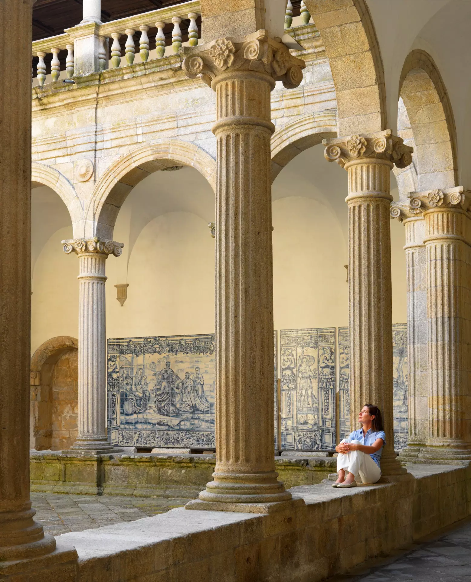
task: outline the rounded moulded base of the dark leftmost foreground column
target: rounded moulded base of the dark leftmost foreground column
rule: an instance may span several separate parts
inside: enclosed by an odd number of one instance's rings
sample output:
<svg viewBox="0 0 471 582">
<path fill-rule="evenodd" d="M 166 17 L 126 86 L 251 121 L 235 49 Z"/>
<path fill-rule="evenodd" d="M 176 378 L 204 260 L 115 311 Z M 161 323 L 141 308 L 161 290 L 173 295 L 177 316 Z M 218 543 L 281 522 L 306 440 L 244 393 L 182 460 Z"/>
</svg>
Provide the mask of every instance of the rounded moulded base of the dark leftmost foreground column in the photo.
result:
<svg viewBox="0 0 471 582">
<path fill-rule="evenodd" d="M 56 541 L 44 535 L 43 526 L 33 520 L 31 502 L 19 510 L 0 513 L 0 563 L 54 552 Z"/>
</svg>

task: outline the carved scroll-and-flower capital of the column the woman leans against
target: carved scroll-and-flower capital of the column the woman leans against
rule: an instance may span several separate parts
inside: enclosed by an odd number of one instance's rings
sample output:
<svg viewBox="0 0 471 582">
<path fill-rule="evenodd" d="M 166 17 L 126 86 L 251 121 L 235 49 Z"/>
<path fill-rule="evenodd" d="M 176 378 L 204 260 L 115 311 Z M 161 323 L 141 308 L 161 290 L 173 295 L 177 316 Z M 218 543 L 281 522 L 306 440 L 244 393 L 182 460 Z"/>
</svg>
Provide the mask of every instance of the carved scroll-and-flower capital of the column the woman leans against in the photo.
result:
<svg viewBox="0 0 471 582">
<path fill-rule="evenodd" d="M 412 162 L 414 151 L 409 145 L 404 145 L 401 137 L 393 136 L 390 129 L 361 136 L 335 137 L 322 143 L 326 146 L 324 158 L 328 162 L 337 162 L 342 168 L 348 162 L 368 158 L 384 159 L 398 168 L 406 168 Z"/>
</svg>

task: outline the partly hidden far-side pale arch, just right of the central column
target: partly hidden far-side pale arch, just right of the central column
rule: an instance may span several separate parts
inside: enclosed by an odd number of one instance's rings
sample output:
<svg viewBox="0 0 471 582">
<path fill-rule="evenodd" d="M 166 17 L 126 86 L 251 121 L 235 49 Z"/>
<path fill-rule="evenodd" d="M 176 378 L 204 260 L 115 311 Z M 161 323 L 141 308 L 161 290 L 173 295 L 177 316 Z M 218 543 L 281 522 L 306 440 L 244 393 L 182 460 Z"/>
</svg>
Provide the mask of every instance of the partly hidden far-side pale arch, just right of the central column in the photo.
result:
<svg viewBox="0 0 471 582">
<path fill-rule="evenodd" d="M 271 182 L 300 152 L 323 139 L 337 137 L 336 111 L 303 115 L 271 136 Z"/>
</svg>

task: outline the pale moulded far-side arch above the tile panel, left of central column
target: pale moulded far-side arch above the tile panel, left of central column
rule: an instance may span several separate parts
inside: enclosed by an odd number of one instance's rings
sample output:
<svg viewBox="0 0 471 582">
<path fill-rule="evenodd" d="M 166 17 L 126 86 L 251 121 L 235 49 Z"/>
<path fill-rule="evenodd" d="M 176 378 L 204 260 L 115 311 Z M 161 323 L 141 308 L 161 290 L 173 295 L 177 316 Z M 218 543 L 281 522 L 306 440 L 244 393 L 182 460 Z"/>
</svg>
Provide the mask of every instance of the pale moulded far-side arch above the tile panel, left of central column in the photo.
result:
<svg viewBox="0 0 471 582">
<path fill-rule="evenodd" d="M 111 239 L 119 208 L 136 184 L 158 170 L 192 166 L 215 191 L 216 162 L 206 151 L 187 141 L 158 139 L 132 148 L 101 176 L 86 209 L 92 236 Z"/>
</svg>

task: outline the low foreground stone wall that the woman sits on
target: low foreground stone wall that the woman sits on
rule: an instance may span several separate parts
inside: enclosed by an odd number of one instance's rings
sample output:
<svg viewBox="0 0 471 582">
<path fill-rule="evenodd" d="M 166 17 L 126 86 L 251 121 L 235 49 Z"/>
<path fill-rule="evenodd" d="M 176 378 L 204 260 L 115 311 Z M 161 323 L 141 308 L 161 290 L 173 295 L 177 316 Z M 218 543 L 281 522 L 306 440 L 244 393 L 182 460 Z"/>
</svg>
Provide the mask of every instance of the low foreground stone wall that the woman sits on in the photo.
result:
<svg viewBox="0 0 471 582">
<path fill-rule="evenodd" d="M 469 467 L 409 471 L 356 489 L 293 488 L 295 501 L 273 513 L 179 508 L 56 539 L 77 549 L 80 581 L 316 582 L 470 514 Z"/>
</svg>

